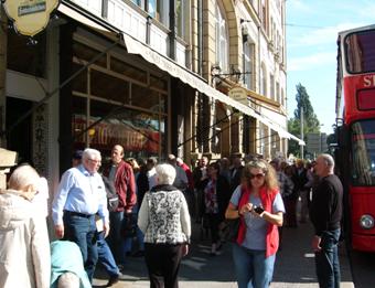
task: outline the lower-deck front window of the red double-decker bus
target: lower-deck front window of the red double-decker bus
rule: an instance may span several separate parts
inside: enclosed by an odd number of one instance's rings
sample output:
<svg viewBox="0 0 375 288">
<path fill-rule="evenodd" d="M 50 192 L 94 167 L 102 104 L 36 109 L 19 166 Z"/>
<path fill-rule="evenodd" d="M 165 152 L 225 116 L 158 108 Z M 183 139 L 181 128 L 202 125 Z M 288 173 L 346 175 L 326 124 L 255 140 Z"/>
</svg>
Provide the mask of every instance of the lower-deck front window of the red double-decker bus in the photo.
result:
<svg viewBox="0 0 375 288">
<path fill-rule="evenodd" d="M 352 180 L 354 185 L 375 185 L 375 120 L 352 126 Z"/>
</svg>

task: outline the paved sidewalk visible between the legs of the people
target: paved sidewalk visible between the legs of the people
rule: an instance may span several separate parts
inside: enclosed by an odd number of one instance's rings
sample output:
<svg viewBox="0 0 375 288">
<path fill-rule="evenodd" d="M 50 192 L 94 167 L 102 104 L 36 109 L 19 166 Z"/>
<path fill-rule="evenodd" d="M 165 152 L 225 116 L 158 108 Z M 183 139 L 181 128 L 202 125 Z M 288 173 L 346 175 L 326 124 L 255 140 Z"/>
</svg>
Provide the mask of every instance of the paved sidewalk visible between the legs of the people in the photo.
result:
<svg viewBox="0 0 375 288">
<path fill-rule="evenodd" d="M 188 257 L 182 260 L 180 287 L 231 288 L 235 282 L 231 244 L 225 244 L 221 255 L 210 256 L 210 241 L 200 241 L 199 226 L 194 225 L 193 245 Z M 301 224 L 298 228 L 283 228 L 282 248 L 276 258 L 271 288 L 319 287 L 314 270 L 314 255 L 310 248 L 312 227 Z M 354 287 L 346 252 L 340 247 L 342 288 Z M 97 273 L 94 287 L 105 287 L 107 277 Z M 149 287 L 143 258 L 129 257 L 125 275 L 113 286 L 143 288 Z"/>
</svg>

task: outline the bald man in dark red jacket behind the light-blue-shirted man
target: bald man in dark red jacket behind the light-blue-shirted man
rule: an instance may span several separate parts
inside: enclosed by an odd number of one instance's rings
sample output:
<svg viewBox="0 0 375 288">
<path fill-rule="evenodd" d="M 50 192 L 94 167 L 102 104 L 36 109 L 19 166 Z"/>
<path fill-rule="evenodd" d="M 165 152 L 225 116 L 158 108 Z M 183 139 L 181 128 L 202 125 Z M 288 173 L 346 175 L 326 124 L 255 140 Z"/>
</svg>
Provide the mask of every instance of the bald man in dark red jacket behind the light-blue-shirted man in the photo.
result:
<svg viewBox="0 0 375 288">
<path fill-rule="evenodd" d="M 118 265 L 125 264 L 126 245 L 121 235 L 122 222 L 131 217 L 137 203 L 136 180 L 131 167 L 124 161 L 124 148 L 115 145 L 111 150 L 111 164 L 103 173 L 114 183 L 119 204 L 116 211 L 109 212 L 109 246 Z"/>
</svg>

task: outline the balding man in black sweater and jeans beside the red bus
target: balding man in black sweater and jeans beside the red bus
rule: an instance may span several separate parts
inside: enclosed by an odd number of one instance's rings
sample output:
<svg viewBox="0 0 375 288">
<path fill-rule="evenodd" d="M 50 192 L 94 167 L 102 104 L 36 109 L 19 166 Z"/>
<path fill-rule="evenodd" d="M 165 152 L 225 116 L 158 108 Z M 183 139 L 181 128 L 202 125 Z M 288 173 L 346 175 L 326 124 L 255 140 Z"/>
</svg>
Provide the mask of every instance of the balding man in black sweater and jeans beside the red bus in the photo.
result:
<svg viewBox="0 0 375 288">
<path fill-rule="evenodd" d="M 338 243 L 342 218 L 343 186 L 333 173 L 334 160 L 330 154 L 320 154 L 315 173 L 320 178 L 313 189 L 310 220 L 315 235 L 312 248 L 315 252 L 315 268 L 320 287 L 340 287 Z"/>
</svg>

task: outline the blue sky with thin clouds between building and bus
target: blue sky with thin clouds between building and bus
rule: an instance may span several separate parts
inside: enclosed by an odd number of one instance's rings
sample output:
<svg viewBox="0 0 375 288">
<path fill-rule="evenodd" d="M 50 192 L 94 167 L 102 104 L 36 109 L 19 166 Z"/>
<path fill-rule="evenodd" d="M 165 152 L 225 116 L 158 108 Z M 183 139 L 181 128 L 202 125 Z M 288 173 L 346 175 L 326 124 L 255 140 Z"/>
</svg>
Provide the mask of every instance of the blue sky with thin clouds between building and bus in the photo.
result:
<svg viewBox="0 0 375 288">
<path fill-rule="evenodd" d="M 375 1 L 287 0 L 286 24 L 288 117 L 294 117 L 296 85 L 301 83 L 321 131 L 332 134 L 338 32 L 375 24 Z"/>
</svg>

